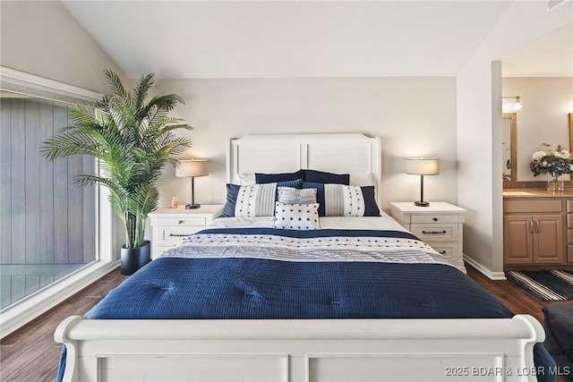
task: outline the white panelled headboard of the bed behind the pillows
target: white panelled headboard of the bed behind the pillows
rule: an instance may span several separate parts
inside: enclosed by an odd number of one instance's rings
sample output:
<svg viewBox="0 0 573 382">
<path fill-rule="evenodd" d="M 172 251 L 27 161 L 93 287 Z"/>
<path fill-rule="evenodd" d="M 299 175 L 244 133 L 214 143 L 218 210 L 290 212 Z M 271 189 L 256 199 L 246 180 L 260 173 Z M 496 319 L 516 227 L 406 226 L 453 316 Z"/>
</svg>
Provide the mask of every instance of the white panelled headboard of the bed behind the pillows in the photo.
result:
<svg viewBox="0 0 573 382">
<path fill-rule="evenodd" d="M 336 174 L 372 174 L 381 205 L 381 143 L 363 134 L 247 135 L 229 141 L 227 183 L 237 174 L 292 173 L 301 168 Z"/>
</svg>

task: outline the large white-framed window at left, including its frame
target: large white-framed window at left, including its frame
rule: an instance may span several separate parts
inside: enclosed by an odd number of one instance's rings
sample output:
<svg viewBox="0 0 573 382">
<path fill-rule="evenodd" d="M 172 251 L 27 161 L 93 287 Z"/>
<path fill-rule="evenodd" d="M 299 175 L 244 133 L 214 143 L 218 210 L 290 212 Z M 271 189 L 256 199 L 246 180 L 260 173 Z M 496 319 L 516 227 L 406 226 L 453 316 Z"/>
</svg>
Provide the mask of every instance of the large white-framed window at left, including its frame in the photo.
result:
<svg viewBox="0 0 573 382">
<path fill-rule="evenodd" d="M 67 124 L 67 106 L 101 95 L 0 66 L 0 335 L 118 266 L 115 219 L 91 157 L 50 162 L 40 145 Z"/>
</svg>

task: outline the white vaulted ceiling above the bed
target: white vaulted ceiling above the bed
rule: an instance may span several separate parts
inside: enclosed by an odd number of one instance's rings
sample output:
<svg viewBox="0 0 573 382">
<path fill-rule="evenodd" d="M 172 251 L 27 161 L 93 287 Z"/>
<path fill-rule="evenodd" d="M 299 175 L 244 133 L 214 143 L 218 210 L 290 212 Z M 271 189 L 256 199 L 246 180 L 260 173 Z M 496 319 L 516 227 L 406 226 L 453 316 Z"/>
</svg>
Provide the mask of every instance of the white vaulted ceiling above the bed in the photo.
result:
<svg viewBox="0 0 573 382">
<path fill-rule="evenodd" d="M 62 3 L 129 77 L 177 79 L 455 76 L 510 2 Z"/>
</svg>

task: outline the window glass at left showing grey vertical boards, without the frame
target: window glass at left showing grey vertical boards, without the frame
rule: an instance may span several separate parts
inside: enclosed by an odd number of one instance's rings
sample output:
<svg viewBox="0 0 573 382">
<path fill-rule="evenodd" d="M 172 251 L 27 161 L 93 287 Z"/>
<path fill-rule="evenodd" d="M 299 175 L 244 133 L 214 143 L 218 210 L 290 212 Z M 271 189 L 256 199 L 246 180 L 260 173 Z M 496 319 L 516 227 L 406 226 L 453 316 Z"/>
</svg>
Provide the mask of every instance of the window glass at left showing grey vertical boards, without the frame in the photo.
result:
<svg viewBox="0 0 573 382">
<path fill-rule="evenodd" d="M 91 157 L 50 162 L 44 140 L 66 126 L 67 104 L 0 93 L 0 309 L 97 260 Z"/>
</svg>

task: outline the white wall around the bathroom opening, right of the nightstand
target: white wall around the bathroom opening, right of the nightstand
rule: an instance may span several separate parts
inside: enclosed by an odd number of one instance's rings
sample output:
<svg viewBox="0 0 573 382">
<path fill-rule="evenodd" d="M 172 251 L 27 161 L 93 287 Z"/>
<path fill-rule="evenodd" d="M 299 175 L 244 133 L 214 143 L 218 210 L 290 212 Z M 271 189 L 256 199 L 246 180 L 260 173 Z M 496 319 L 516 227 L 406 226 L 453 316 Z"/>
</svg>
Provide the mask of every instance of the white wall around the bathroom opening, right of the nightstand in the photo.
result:
<svg viewBox="0 0 573 382">
<path fill-rule="evenodd" d="M 469 211 L 464 251 L 489 276 L 503 276 L 498 60 L 571 21 L 570 1 L 551 12 L 543 1 L 515 1 L 458 75 L 458 203 Z"/>
</svg>

